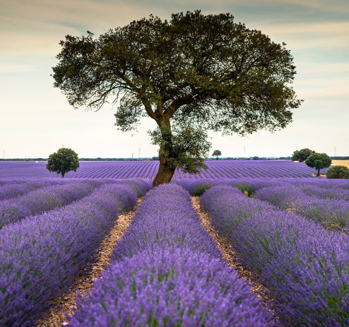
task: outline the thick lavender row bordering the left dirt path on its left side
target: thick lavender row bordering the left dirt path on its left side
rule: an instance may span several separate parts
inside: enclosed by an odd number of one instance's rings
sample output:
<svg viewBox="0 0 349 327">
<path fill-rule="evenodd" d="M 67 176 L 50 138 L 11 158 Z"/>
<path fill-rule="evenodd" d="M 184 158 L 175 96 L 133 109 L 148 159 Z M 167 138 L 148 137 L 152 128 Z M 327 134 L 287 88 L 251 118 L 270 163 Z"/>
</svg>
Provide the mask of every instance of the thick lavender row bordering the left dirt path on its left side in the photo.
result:
<svg viewBox="0 0 349 327">
<path fill-rule="evenodd" d="M 43 318 L 77 277 L 88 274 L 84 268 L 96 260 L 118 215 L 151 187 L 142 180 L 112 181 L 70 205 L 0 230 L 1 326 L 34 326 Z"/>
</svg>

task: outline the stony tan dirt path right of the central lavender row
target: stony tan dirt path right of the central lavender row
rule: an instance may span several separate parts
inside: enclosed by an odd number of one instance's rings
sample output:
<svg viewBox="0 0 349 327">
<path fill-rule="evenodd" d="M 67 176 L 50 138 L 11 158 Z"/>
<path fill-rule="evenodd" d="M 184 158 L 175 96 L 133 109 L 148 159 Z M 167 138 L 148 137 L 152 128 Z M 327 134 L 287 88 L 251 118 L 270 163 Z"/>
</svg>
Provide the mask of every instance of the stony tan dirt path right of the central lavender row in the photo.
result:
<svg viewBox="0 0 349 327">
<path fill-rule="evenodd" d="M 221 250 L 222 256 L 226 260 L 228 267 L 234 268 L 240 278 L 245 277 L 248 282 L 252 282 L 251 291 L 256 295 L 257 299 L 260 299 L 263 307 L 268 308 L 268 312 L 274 316 L 274 324 L 276 323 L 277 326 L 282 326 L 279 322 L 279 317 L 277 317 L 275 312 L 270 309 L 273 307 L 274 298 L 270 296 L 268 289 L 260 283 L 259 277 L 256 274 L 252 273 L 248 267 L 242 265 L 242 260 L 240 259 L 239 254 L 233 250 L 229 240 L 220 235 L 211 225 L 209 213 L 200 207 L 200 196 L 192 196 L 191 199 L 193 207 L 199 215 L 201 224 L 211 235 L 218 249 Z"/>
</svg>

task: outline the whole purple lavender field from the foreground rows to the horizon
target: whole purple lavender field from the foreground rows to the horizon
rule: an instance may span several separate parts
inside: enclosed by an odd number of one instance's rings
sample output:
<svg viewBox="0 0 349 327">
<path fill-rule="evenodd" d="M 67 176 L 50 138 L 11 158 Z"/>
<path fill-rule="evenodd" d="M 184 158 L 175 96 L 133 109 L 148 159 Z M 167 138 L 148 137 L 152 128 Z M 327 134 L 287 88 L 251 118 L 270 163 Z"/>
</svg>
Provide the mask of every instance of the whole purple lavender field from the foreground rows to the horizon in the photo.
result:
<svg viewBox="0 0 349 327">
<path fill-rule="evenodd" d="M 21 176 L 0 178 L 0 326 L 348 326 L 349 180 L 208 164 L 218 176 L 151 189 L 153 162 L 83 163 L 95 178 L 67 179 L 15 163 Z M 247 178 L 223 178 L 233 169 Z"/>
</svg>

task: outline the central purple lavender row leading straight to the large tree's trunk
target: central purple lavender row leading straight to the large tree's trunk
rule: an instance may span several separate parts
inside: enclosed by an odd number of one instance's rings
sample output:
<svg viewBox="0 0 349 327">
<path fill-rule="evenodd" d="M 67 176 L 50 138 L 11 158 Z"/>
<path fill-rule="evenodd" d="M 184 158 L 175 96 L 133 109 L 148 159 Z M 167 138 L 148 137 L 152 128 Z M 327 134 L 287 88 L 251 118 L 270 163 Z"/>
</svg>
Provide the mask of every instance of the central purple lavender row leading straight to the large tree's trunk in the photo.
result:
<svg viewBox="0 0 349 327">
<path fill-rule="evenodd" d="M 221 260 L 188 193 L 161 185 L 144 198 L 103 279 L 69 326 L 265 326 L 267 321 L 250 288 Z"/>
</svg>

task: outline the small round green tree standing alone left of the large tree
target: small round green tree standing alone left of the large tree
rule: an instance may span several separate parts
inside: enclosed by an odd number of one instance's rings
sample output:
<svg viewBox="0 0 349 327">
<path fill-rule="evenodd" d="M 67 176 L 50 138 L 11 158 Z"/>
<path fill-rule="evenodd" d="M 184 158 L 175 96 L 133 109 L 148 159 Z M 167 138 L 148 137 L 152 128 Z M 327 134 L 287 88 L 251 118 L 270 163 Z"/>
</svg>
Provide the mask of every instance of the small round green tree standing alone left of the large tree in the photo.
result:
<svg viewBox="0 0 349 327">
<path fill-rule="evenodd" d="M 51 172 L 62 174 L 64 178 L 68 171 L 75 171 L 79 168 L 79 158 L 77 153 L 72 149 L 60 148 L 57 152 L 49 155 L 46 168 Z"/>
</svg>

